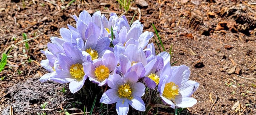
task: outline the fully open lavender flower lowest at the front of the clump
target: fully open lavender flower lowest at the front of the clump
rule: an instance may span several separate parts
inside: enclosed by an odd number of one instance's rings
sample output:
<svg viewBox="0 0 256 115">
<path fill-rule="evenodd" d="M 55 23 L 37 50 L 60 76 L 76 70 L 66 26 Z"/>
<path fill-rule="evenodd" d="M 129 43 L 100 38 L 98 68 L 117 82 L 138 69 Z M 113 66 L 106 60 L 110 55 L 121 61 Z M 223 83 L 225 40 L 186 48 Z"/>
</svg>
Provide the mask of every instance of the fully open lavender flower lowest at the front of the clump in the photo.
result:
<svg viewBox="0 0 256 115">
<path fill-rule="evenodd" d="M 103 93 L 100 102 L 105 104 L 116 103 L 118 115 L 127 115 L 129 105 L 138 111 L 145 111 L 145 103 L 141 99 L 144 95 L 144 84 L 137 82 L 136 72 L 127 72 L 121 77 L 119 74 L 110 75 L 108 86 L 111 88 Z"/>
</svg>

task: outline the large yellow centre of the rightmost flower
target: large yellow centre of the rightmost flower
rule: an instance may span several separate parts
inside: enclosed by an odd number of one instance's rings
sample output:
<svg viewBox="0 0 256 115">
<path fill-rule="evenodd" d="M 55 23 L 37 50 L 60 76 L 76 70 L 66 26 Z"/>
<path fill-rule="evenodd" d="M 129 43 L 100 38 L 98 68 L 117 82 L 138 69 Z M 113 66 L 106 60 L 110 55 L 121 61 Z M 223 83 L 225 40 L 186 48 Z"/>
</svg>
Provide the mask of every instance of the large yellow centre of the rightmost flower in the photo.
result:
<svg viewBox="0 0 256 115">
<path fill-rule="evenodd" d="M 163 96 L 169 100 L 174 100 L 175 96 L 179 94 L 178 85 L 174 82 L 166 83 L 164 87 Z"/>
</svg>

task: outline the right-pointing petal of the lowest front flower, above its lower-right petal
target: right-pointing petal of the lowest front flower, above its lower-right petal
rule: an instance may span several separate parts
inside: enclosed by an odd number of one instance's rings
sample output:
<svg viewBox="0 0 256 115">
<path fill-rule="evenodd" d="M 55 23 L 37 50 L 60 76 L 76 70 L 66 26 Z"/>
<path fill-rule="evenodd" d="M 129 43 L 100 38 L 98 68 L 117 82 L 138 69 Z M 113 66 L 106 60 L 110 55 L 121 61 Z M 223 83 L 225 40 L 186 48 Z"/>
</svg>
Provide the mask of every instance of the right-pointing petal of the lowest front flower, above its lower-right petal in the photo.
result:
<svg viewBox="0 0 256 115">
<path fill-rule="evenodd" d="M 132 89 L 132 95 L 141 97 L 145 94 L 146 87 L 143 83 L 137 82 L 131 85 L 131 89 Z"/>
</svg>

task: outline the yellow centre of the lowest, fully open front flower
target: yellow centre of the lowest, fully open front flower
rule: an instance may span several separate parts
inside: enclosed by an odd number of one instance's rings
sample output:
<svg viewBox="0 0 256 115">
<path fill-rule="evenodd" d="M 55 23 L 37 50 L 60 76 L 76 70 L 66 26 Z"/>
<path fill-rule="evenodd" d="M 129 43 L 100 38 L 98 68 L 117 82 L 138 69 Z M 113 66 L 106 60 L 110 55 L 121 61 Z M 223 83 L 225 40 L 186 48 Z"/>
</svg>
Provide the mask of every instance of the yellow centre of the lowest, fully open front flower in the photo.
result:
<svg viewBox="0 0 256 115">
<path fill-rule="evenodd" d="M 131 96 L 132 95 L 132 90 L 130 89 L 130 86 L 127 85 L 127 84 L 121 85 L 118 88 L 118 93 L 119 93 L 120 98 L 126 97 L 127 99 L 130 99 L 130 100 L 133 98 Z"/>
</svg>

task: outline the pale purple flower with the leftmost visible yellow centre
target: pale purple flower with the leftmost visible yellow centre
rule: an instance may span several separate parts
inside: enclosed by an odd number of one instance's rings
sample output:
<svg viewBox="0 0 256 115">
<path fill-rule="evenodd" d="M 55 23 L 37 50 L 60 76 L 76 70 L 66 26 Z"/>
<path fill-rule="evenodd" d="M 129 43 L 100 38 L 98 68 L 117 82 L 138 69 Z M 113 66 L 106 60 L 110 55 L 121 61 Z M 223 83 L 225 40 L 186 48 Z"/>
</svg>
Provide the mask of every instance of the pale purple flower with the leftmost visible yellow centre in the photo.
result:
<svg viewBox="0 0 256 115">
<path fill-rule="evenodd" d="M 83 71 L 82 63 L 87 60 L 88 55 L 82 55 L 82 51 L 78 46 L 74 46 L 70 42 L 64 42 L 64 53 L 56 53 L 57 61 L 62 69 L 56 69 L 50 79 L 59 83 L 69 83 L 69 89 L 72 93 L 77 92 L 84 85 L 87 76 Z"/>
</svg>

